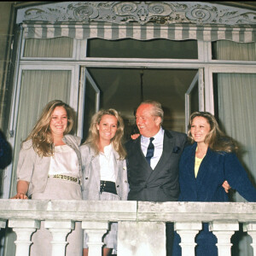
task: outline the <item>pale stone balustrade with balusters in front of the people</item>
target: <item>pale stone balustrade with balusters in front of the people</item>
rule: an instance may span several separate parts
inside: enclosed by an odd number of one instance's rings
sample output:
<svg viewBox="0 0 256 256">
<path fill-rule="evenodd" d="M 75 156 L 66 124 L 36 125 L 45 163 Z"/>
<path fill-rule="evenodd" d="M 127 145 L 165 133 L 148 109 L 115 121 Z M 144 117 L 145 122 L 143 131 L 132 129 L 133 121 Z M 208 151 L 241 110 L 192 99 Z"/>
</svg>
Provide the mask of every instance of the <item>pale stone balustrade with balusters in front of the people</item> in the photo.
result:
<svg viewBox="0 0 256 256">
<path fill-rule="evenodd" d="M 166 223 L 181 236 L 183 255 L 195 255 L 195 236 L 202 222 L 218 238 L 218 255 L 230 255 L 230 237 L 243 224 L 252 236 L 256 255 L 256 203 L 32 201 L 1 200 L 0 227 L 16 235 L 16 256 L 29 255 L 32 233 L 45 227 L 53 235 L 52 255 L 64 256 L 66 236 L 79 221 L 89 234 L 90 256 L 102 255 L 102 236 L 109 222 L 119 223 L 118 253 L 125 256 L 166 256 Z"/>
</svg>

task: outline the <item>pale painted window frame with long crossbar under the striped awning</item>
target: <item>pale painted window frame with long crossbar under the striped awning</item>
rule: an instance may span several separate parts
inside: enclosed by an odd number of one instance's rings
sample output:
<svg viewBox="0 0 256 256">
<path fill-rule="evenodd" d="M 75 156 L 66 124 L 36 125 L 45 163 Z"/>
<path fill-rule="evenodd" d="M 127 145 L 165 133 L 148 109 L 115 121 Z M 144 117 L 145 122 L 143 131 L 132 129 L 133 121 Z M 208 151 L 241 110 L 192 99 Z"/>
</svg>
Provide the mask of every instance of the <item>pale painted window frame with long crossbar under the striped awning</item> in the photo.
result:
<svg viewBox="0 0 256 256">
<path fill-rule="evenodd" d="M 15 127 L 17 125 L 17 113 L 20 96 L 20 75 L 22 70 L 71 70 L 72 79 L 70 84 L 69 103 L 78 112 L 78 124 L 83 123 L 83 111 L 81 95 L 79 91 L 81 82 L 79 74 L 81 67 L 123 67 L 123 68 L 165 68 L 165 69 L 201 69 L 204 78 L 204 107 L 201 110 L 214 114 L 213 102 L 213 73 L 255 73 L 256 61 L 224 61 L 212 60 L 212 43 L 197 41 L 198 59 L 147 59 L 147 58 L 91 58 L 85 55 L 87 40 L 73 39 L 72 58 L 35 58 L 23 57 L 23 47 L 25 39 L 20 36 L 20 47 L 18 48 L 18 59 L 15 67 L 14 90 L 11 103 L 11 115 L 9 123 L 9 142 L 15 147 Z M 81 134 L 81 129 L 77 128 L 77 133 Z M 11 180 L 12 165 L 6 170 L 6 177 L 3 185 L 3 198 L 9 198 L 9 184 Z"/>
</svg>

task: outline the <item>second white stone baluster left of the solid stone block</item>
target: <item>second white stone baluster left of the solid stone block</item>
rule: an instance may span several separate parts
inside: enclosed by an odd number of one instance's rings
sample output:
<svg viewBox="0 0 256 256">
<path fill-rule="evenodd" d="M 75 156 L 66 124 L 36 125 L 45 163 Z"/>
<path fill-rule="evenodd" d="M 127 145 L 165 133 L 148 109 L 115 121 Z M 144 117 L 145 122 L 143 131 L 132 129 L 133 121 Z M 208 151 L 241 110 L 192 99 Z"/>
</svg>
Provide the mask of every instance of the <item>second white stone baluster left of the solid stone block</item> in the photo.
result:
<svg viewBox="0 0 256 256">
<path fill-rule="evenodd" d="M 72 220 L 45 220 L 45 229 L 52 234 L 52 256 L 65 256 L 65 248 L 67 246 L 67 234 L 74 229 L 74 221 Z"/>
</svg>

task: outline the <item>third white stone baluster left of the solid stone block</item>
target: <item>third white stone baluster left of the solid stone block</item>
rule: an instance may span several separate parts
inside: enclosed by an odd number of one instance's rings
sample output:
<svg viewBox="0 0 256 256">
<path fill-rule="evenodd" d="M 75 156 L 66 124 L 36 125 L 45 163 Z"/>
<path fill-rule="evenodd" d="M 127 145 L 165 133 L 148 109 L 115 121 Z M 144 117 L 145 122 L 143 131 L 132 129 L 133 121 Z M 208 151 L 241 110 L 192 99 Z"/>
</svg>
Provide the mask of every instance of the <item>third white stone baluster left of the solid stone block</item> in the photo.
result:
<svg viewBox="0 0 256 256">
<path fill-rule="evenodd" d="M 8 225 L 10 228 L 13 228 L 17 235 L 15 255 L 28 256 L 29 247 L 32 244 L 32 233 L 40 228 L 40 221 L 35 219 L 9 219 Z"/>
</svg>

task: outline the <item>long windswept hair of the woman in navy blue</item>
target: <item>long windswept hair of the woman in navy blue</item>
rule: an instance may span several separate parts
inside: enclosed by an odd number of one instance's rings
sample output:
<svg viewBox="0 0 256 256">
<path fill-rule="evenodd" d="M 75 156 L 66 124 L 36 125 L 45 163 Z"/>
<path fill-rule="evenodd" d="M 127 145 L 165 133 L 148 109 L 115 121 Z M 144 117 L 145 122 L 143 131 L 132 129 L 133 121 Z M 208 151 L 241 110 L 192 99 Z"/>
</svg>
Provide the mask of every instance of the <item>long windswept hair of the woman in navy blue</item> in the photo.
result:
<svg viewBox="0 0 256 256">
<path fill-rule="evenodd" d="M 207 119 L 207 122 L 211 127 L 211 130 L 209 131 L 209 133 L 205 138 L 205 143 L 209 145 L 209 148 L 211 148 L 213 151 L 224 151 L 224 152 L 234 152 L 237 150 L 236 143 L 233 141 L 232 138 L 226 136 L 224 132 L 219 129 L 217 120 L 212 115 L 212 113 L 209 113 L 209 112 L 191 113 L 189 117 L 189 131 L 188 131 L 188 137 L 189 137 L 190 143 L 195 142 L 191 135 L 191 125 L 192 125 L 193 119 L 195 119 L 195 117 L 197 116 Z"/>
</svg>

